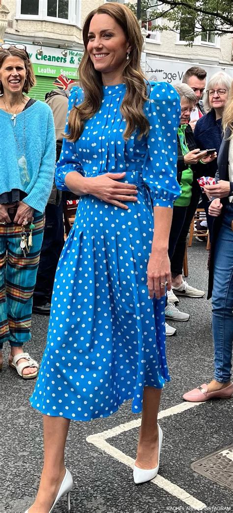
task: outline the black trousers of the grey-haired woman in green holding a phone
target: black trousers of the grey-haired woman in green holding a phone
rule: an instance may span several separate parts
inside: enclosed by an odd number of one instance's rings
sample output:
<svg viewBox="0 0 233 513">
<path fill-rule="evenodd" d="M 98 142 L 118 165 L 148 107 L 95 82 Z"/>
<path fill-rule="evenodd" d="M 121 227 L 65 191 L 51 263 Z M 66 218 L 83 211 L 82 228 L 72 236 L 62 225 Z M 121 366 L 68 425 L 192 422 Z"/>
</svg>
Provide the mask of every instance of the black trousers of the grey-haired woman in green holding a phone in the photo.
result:
<svg viewBox="0 0 233 513">
<path fill-rule="evenodd" d="M 184 219 L 183 226 L 181 228 L 175 251 L 173 253 L 173 257 L 171 259 L 171 272 L 173 278 L 178 276 L 178 274 L 182 274 L 183 272 L 183 260 L 184 260 L 184 253 L 185 253 L 185 247 L 186 247 L 186 238 L 189 230 L 190 223 L 193 219 L 193 216 L 196 212 L 199 199 L 200 199 L 200 186 L 195 179 L 193 182 L 193 188 L 192 188 L 192 197 L 190 204 L 187 207 L 186 215 Z"/>
</svg>

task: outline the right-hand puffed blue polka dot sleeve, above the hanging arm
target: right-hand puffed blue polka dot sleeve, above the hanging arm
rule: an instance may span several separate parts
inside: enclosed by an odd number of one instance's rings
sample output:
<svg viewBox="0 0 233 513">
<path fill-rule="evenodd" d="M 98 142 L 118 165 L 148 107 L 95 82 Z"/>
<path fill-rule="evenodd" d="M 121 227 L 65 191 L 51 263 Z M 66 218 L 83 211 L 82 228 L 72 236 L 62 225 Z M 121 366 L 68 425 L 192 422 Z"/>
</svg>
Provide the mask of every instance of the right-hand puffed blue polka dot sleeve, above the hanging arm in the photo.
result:
<svg viewBox="0 0 233 513">
<path fill-rule="evenodd" d="M 149 187 L 154 207 L 173 208 L 180 196 L 177 182 L 177 130 L 180 122 L 180 98 L 166 82 L 151 82 L 145 114 L 150 123 L 143 180 Z"/>
</svg>

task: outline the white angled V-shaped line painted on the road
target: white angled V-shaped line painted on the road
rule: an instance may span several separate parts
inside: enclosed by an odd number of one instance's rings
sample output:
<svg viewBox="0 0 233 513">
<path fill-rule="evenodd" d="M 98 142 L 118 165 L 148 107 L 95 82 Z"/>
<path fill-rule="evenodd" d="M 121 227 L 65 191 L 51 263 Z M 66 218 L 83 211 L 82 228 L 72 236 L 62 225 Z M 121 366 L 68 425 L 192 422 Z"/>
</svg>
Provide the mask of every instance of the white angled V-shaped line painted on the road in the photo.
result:
<svg viewBox="0 0 233 513">
<path fill-rule="evenodd" d="M 177 415 L 183 411 L 186 411 L 194 406 L 199 406 L 204 403 L 180 403 L 176 406 L 172 406 L 171 408 L 167 408 L 166 410 L 160 411 L 158 415 L 158 419 L 163 419 L 165 417 L 170 417 L 171 415 Z M 102 431 L 101 433 L 96 433 L 95 435 L 90 435 L 87 437 L 87 442 L 95 445 L 99 449 L 107 452 L 110 456 L 120 461 L 124 465 L 127 465 L 130 468 L 134 468 L 134 460 L 130 456 L 124 454 L 121 450 L 117 449 L 113 445 L 111 445 L 106 440 L 108 438 L 116 437 L 125 431 L 129 431 L 130 429 L 134 429 L 141 425 L 141 419 L 132 420 L 130 422 L 126 422 L 125 424 L 120 424 L 119 426 L 108 429 L 107 431 Z M 190 495 L 187 491 L 183 490 L 176 484 L 168 481 L 168 479 L 163 478 L 160 475 L 157 475 L 156 478 L 152 479 L 151 483 L 155 484 L 159 488 L 167 491 L 168 494 L 173 495 L 177 499 L 180 499 L 182 502 L 191 506 L 192 508 L 201 511 L 206 505 L 195 499 L 192 495 Z"/>
</svg>

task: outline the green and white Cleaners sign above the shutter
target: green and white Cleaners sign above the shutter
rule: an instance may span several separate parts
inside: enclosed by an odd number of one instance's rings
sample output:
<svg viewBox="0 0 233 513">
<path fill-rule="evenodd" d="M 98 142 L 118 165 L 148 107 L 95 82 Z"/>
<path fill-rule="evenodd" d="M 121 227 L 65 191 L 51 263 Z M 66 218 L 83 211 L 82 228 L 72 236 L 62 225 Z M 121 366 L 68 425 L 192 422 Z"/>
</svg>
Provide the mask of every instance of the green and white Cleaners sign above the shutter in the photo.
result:
<svg viewBox="0 0 233 513">
<path fill-rule="evenodd" d="M 6 43 L 12 43 L 12 41 L 6 41 Z M 42 46 L 43 55 L 38 55 L 36 50 L 40 48 L 40 45 L 28 45 L 27 43 L 25 45 L 32 61 L 35 75 L 54 77 L 65 75 L 69 78 L 77 78 L 77 69 L 83 55 L 83 52 L 80 50 Z M 61 54 L 62 51 L 67 51 L 67 56 L 63 56 Z"/>
</svg>

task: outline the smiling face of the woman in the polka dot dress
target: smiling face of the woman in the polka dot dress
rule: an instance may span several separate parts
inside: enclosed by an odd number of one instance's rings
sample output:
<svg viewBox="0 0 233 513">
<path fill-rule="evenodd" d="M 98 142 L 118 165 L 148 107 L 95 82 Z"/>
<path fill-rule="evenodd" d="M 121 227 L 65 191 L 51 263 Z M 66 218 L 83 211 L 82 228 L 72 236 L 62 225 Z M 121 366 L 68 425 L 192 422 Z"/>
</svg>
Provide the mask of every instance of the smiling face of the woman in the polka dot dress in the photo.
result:
<svg viewBox="0 0 233 513">
<path fill-rule="evenodd" d="M 96 71 L 121 75 L 129 43 L 122 28 L 108 14 L 95 14 L 89 27 L 88 52 Z"/>
</svg>

